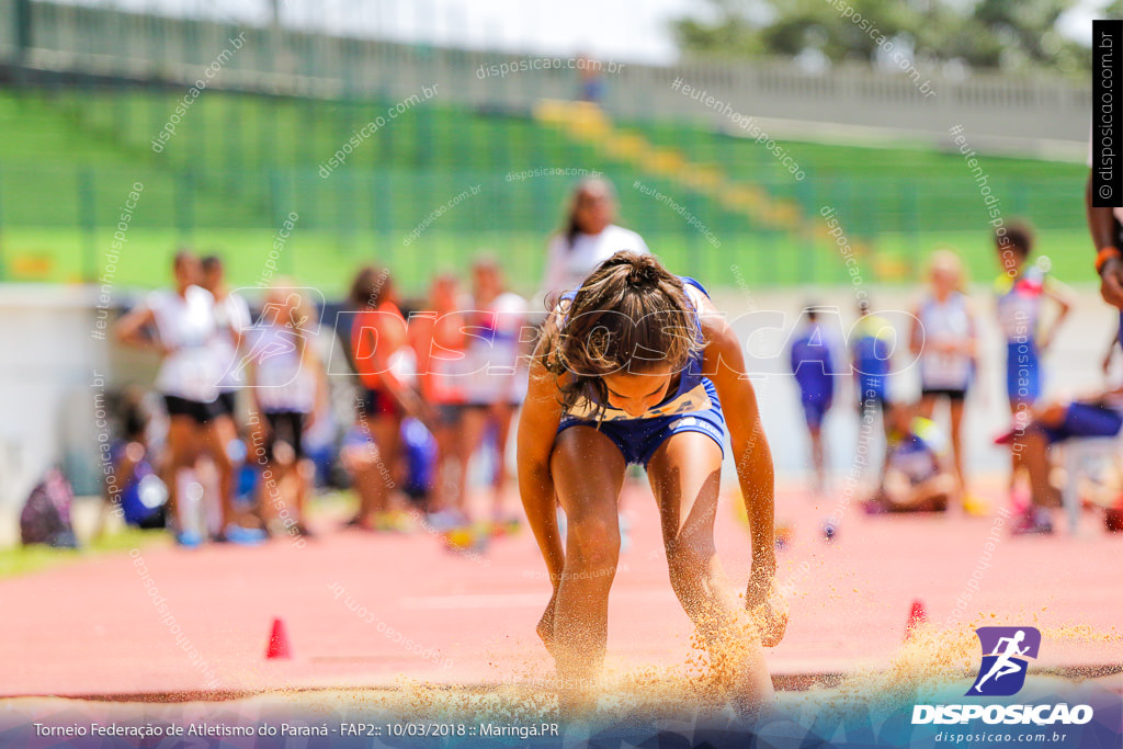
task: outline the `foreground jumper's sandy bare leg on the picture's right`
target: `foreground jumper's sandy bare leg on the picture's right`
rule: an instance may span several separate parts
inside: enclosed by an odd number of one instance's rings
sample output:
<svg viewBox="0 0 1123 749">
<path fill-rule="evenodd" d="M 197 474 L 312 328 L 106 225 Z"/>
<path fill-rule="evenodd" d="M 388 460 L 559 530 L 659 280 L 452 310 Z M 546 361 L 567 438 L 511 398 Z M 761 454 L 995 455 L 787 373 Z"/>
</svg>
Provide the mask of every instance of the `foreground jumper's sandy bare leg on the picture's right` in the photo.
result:
<svg viewBox="0 0 1123 749">
<path fill-rule="evenodd" d="M 659 505 L 670 585 L 710 650 L 719 678 L 740 709 L 773 696 L 759 636 L 718 560 L 713 524 L 721 488 L 721 448 L 700 432 L 672 435 L 648 463 Z"/>
</svg>

